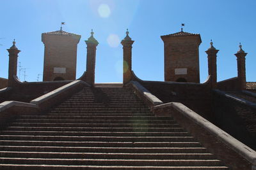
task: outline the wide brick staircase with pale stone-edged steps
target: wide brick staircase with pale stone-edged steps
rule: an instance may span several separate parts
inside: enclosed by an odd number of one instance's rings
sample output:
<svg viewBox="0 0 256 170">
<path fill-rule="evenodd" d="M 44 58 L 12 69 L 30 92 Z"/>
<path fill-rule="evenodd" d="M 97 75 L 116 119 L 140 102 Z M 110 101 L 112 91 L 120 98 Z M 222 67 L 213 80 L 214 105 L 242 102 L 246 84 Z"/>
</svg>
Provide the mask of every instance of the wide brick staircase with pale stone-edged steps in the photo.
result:
<svg viewBox="0 0 256 170">
<path fill-rule="evenodd" d="M 228 169 L 131 89 L 84 88 L 0 131 L 0 169 Z"/>
</svg>

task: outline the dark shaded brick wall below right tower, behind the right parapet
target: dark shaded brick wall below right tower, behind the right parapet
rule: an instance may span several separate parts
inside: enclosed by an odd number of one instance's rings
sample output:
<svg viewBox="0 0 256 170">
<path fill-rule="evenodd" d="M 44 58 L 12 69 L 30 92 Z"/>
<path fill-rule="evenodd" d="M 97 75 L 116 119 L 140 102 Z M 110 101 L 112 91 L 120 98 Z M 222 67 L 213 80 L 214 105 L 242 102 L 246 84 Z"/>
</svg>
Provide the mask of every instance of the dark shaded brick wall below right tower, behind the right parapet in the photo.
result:
<svg viewBox="0 0 256 170">
<path fill-rule="evenodd" d="M 207 120 L 212 118 L 212 94 L 207 83 L 143 81 L 133 73 L 133 80 L 158 97 L 163 103 L 180 102 Z"/>
</svg>

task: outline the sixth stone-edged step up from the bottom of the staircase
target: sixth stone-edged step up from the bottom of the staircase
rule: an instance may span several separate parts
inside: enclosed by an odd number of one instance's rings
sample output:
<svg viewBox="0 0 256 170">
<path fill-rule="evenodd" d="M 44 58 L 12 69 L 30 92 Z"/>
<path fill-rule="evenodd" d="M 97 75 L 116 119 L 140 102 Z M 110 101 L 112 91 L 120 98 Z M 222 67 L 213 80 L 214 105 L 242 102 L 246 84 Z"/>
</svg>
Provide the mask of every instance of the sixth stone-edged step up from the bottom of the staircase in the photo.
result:
<svg viewBox="0 0 256 170">
<path fill-rule="evenodd" d="M 0 135 L 0 140 L 20 141 L 105 141 L 105 142 L 194 142 L 191 136 L 33 136 Z"/>
</svg>

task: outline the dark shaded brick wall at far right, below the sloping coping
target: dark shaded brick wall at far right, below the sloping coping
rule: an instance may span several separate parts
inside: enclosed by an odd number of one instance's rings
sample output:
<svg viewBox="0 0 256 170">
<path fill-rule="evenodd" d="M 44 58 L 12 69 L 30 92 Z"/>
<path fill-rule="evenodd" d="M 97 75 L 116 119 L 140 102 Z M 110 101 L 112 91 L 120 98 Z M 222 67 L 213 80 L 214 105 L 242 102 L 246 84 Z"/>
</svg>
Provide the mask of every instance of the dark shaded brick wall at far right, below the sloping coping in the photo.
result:
<svg viewBox="0 0 256 170">
<path fill-rule="evenodd" d="M 256 109 L 213 92 L 214 124 L 256 150 Z"/>
</svg>

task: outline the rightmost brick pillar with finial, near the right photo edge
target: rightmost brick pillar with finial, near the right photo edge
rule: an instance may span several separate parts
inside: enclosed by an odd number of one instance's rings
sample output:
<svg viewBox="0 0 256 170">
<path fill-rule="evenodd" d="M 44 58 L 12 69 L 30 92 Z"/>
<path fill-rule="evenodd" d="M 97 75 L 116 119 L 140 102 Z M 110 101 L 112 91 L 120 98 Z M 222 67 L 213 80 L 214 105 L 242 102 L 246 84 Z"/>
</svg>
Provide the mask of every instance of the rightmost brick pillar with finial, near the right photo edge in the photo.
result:
<svg viewBox="0 0 256 170">
<path fill-rule="evenodd" d="M 245 56 L 247 53 L 242 49 L 242 45 L 239 45 L 239 51 L 235 53 L 237 57 L 237 76 L 239 81 L 239 90 L 246 89 L 246 72 L 245 72 Z"/>
</svg>

